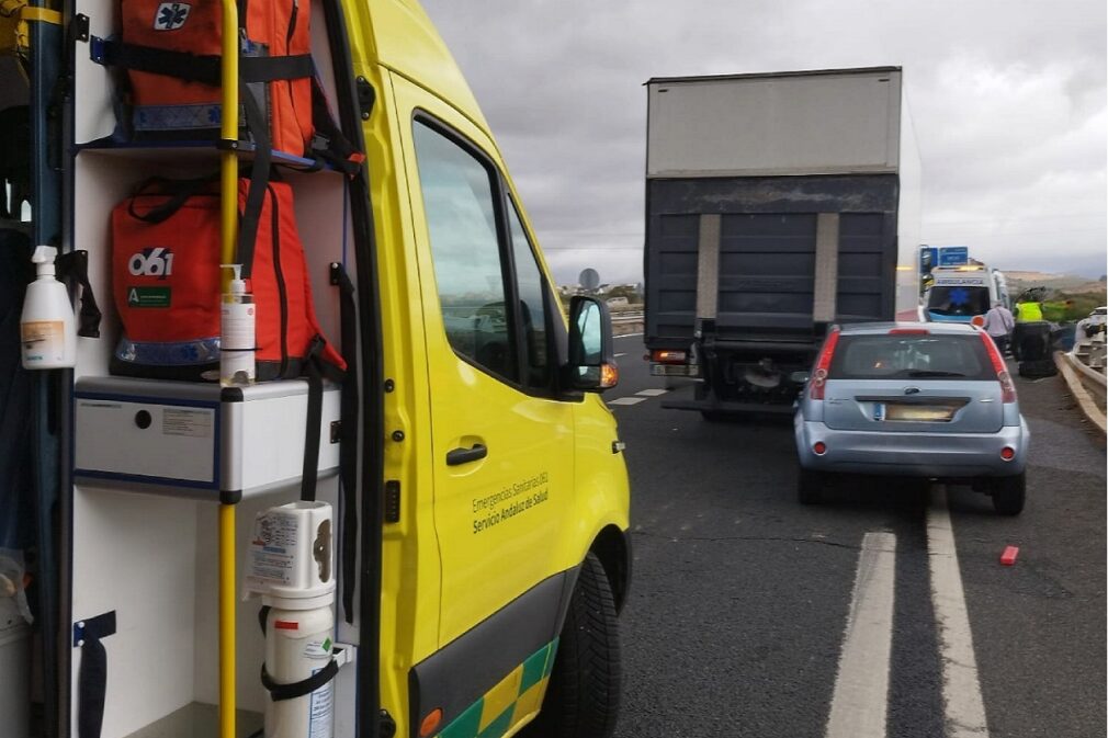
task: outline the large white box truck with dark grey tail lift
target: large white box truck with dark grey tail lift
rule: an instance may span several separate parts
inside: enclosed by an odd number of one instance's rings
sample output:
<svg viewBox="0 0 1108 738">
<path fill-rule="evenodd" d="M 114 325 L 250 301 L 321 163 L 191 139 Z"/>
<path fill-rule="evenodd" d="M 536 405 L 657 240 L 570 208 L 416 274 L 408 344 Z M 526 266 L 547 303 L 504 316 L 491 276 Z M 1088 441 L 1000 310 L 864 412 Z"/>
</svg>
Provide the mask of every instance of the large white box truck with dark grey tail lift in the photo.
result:
<svg viewBox="0 0 1108 738">
<path fill-rule="evenodd" d="M 828 326 L 917 319 L 899 66 L 646 86 L 646 346 L 652 373 L 698 380 L 667 407 L 789 412 Z"/>
</svg>

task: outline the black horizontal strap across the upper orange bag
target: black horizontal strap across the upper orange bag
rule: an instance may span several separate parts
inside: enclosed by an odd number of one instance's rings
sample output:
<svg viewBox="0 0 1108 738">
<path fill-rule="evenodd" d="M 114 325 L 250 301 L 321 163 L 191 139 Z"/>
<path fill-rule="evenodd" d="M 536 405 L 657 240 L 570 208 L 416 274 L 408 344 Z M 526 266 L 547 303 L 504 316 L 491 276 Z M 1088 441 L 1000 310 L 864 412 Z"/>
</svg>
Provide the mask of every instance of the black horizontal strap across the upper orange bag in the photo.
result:
<svg viewBox="0 0 1108 738">
<path fill-rule="evenodd" d="M 109 39 L 98 39 L 93 49 L 96 52 L 93 61 L 107 66 L 163 74 L 212 88 L 220 83 L 222 58 L 218 55 L 192 54 Z M 238 78 L 243 82 L 300 80 L 312 76 L 315 72 L 311 54 L 239 57 L 238 60 Z"/>
</svg>

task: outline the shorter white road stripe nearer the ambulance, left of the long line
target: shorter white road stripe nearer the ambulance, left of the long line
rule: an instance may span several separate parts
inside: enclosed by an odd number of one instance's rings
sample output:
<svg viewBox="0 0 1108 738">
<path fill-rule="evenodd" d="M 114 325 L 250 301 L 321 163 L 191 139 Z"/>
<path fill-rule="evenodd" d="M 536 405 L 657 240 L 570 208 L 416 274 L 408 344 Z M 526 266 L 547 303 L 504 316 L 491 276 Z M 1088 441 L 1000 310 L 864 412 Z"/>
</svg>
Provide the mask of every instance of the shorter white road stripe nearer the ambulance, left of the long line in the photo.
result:
<svg viewBox="0 0 1108 738">
<path fill-rule="evenodd" d="M 896 536 L 866 533 L 839 654 L 827 738 L 884 738 L 892 653 Z"/>
</svg>

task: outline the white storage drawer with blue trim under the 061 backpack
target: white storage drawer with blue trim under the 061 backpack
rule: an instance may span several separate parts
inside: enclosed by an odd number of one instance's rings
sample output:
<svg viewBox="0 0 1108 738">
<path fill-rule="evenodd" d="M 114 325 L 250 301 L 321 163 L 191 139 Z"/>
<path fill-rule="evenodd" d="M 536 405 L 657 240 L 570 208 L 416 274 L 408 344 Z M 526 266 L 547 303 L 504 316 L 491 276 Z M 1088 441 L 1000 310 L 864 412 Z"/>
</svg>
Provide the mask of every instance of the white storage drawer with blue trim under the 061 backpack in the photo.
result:
<svg viewBox="0 0 1108 738">
<path fill-rule="evenodd" d="M 305 380 L 223 388 L 88 377 L 76 382 L 75 406 L 80 484 L 235 503 L 300 483 Z M 339 389 L 325 385 L 320 476 L 338 472 L 339 406 Z"/>
</svg>

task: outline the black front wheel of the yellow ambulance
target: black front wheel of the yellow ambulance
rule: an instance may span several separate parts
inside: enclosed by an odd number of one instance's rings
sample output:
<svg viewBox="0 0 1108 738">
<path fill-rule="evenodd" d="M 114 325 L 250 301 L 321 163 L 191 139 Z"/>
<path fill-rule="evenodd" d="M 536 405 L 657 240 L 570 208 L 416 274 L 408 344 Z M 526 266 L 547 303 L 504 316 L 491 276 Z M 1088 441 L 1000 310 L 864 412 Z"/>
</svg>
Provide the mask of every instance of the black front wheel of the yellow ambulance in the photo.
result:
<svg viewBox="0 0 1108 738">
<path fill-rule="evenodd" d="M 608 738 L 619 713 L 616 604 L 604 566 L 589 553 L 558 638 L 543 708 L 527 738 Z"/>
</svg>

